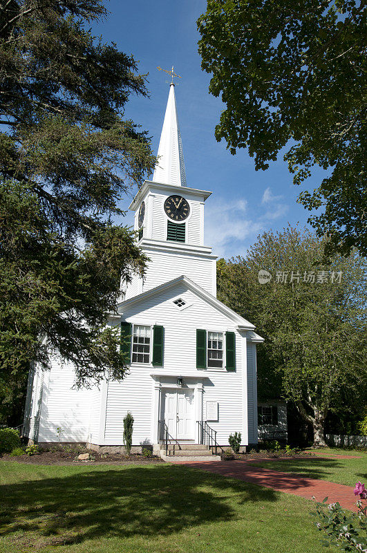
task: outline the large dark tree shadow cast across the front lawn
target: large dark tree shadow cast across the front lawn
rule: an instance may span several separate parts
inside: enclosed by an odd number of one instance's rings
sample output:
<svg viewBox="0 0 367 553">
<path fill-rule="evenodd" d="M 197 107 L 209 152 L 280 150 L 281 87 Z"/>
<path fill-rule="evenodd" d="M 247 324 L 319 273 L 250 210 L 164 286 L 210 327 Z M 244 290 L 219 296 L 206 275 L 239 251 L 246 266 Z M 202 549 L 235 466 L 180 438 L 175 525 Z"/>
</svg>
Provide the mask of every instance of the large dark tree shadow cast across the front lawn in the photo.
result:
<svg viewBox="0 0 367 553">
<path fill-rule="evenodd" d="M 255 503 L 279 497 L 270 489 L 171 465 L 88 467 L 64 477 L 3 485 L 1 491 L 0 535 L 21 530 L 64 536 L 63 543 L 171 534 L 236 518 L 234 500 Z"/>
</svg>

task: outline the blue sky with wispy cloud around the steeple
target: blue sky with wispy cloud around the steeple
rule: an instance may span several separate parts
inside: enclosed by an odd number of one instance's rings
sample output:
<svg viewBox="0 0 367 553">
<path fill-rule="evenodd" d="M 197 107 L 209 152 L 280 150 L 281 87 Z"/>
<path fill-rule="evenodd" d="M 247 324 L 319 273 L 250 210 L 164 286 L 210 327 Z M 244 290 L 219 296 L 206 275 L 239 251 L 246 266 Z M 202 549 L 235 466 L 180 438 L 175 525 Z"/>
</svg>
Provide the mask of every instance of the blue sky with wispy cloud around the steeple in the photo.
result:
<svg viewBox="0 0 367 553">
<path fill-rule="evenodd" d="M 175 92 L 187 185 L 213 191 L 205 207 L 205 245 L 211 245 L 218 256 L 245 255 L 258 234 L 282 229 L 288 222 L 304 225 L 309 212 L 297 204 L 301 189 L 292 184 L 282 154 L 267 171 L 255 171 L 247 151 L 232 156 L 225 142 L 214 138 L 223 104 L 208 93 L 210 75 L 200 68 L 196 30 L 206 1 L 110 0 L 106 7 L 111 13 L 93 26 L 93 32 L 133 54 L 139 72 L 149 73 L 150 97 L 131 96 L 126 116 L 149 132 L 154 153 L 169 93 L 169 76 L 156 67 L 169 69 L 173 65 L 182 75 Z M 317 187 L 320 177 L 321 171 L 315 171 L 307 188 Z M 135 192 L 132 190 L 131 196 Z M 130 198 L 122 198 L 122 209 L 129 202 Z M 125 222 L 132 224 L 130 214 Z"/>
</svg>

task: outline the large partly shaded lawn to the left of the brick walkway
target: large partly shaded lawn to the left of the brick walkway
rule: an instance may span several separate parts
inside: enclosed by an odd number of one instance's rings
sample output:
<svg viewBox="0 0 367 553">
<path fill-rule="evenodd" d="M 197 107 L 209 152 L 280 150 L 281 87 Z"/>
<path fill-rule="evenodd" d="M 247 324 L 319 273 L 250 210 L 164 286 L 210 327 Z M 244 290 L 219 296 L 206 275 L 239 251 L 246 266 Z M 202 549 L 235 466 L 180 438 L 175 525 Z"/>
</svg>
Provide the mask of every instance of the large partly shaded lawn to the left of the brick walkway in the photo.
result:
<svg viewBox="0 0 367 553">
<path fill-rule="evenodd" d="M 325 551 L 310 501 L 182 465 L 0 462 L 0 478 L 1 553 Z"/>
</svg>

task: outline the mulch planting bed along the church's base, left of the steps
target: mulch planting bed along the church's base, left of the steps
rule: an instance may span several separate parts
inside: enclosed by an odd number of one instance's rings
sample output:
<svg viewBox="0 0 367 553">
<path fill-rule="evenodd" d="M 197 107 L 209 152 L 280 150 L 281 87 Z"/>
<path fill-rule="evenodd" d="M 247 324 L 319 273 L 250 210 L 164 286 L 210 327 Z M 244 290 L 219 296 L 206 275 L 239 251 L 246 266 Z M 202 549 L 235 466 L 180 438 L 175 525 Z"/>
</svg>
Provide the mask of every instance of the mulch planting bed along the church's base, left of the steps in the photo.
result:
<svg viewBox="0 0 367 553">
<path fill-rule="evenodd" d="M 106 457 L 102 457 L 96 451 L 89 451 L 89 453 L 91 453 L 94 460 L 75 461 L 75 457 L 79 455 L 76 451 L 73 451 L 73 453 L 66 453 L 65 451 L 41 451 L 37 455 L 21 455 L 19 457 L 4 454 L 0 458 L 0 461 L 20 462 L 26 465 L 156 465 L 157 463 L 164 462 L 160 457 L 144 457 L 138 453 L 129 456 L 109 453 Z"/>
</svg>

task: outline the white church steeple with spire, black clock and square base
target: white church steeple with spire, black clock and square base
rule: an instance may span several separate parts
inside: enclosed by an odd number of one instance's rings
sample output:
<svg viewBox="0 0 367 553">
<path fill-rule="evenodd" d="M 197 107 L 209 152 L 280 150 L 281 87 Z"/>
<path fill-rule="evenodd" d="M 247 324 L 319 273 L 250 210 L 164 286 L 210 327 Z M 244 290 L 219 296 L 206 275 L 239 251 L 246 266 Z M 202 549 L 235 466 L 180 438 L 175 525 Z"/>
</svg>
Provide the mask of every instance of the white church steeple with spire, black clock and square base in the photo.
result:
<svg viewBox="0 0 367 553">
<path fill-rule="evenodd" d="M 204 245 L 204 203 L 211 192 L 187 186 L 175 86 L 167 108 L 152 180 L 145 180 L 129 209 L 138 244 L 151 260 L 144 279 L 126 288 L 129 299 L 185 275 L 216 296 L 216 256 Z"/>
</svg>

